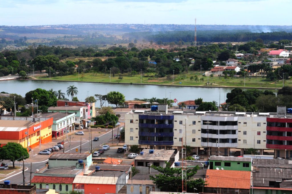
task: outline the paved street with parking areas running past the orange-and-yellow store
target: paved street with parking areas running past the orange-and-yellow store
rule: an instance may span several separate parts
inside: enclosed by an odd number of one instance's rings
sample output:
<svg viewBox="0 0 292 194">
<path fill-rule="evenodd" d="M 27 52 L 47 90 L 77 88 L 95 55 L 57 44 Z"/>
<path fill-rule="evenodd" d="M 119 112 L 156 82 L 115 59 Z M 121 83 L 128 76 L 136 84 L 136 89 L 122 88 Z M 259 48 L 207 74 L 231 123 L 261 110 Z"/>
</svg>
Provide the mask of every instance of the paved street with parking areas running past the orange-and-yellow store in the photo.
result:
<svg viewBox="0 0 292 194">
<path fill-rule="evenodd" d="M 81 139 L 81 153 L 85 153 L 89 151 L 89 129 L 84 129 L 84 135 L 74 135 L 71 134 L 71 151 L 69 149 L 69 137 L 68 136 L 68 141 L 66 141 L 65 137 L 65 153 L 80 153 L 80 139 Z M 113 130 L 113 134 L 117 134 L 117 128 Z M 100 137 L 99 141 L 92 141 L 92 148 L 101 148 L 101 145 L 112 140 L 112 130 L 105 131 L 106 133 L 100 134 L 97 129 L 92 129 L 91 134 L 92 134 L 92 139 L 94 137 Z M 56 145 L 58 142 L 62 140 L 60 139 L 54 139 L 52 142 L 47 143 L 42 145 L 42 149 L 48 148 L 50 146 Z M 114 139 L 114 143 L 117 143 L 117 139 Z M 76 152 L 76 148 L 78 148 L 78 152 Z M 30 162 L 32 162 L 32 172 L 36 172 L 36 169 L 41 169 L 45 166 L 46 162 L 48 162 L 48 157 L 47 155 L 38 155 L 39 152 L 39 147 L 36 147 L 32 150 L 30 153 L 30 158 L 25 160 L 25 182 L 26 184 L 29 183 L 29 175 L 30 175 Z M 63 152 L 63 150 L 59 150 L 58 152 Z M 116 154 L 116 148 L 112 148 L 110 150 L 107 150 L 105 154 L 107 155 L 113 155 Z M 4 161 L 5 163 L 9 163 L 9 161 Z M 22 166 L 22 161 L 21 162 L 15 162 L 16 166 Z M 17 172 L 15 172 L 17 173 Z M 34 173 L 32 173 L 32 177 L 34 176 Z M 2 179 L 0 183 L 4 183 L 4 180 L 10 180 L 11 183 L 13 184 L 22 184 L 23 178 L 22 178 L 22 172 L 20 171 L 19 174 L 13 174 L 11 177 L 8 177 L 6 179 Z"/>
</svg>

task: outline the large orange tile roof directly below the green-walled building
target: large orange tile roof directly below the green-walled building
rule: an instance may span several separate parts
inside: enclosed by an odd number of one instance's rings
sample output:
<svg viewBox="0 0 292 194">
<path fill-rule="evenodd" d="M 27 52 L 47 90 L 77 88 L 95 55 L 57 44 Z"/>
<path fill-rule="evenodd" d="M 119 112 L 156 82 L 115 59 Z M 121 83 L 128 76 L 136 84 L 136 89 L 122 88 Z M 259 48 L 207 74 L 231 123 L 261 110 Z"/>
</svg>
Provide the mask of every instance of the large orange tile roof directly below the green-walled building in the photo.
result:
<svg viewBox="0 0 292 194">
<path fill-rule="evenodd" d="M 250 189 L 250 181 L 250 171 L 208 169 L 206 172 L 206 187 Z"/>
</svg>

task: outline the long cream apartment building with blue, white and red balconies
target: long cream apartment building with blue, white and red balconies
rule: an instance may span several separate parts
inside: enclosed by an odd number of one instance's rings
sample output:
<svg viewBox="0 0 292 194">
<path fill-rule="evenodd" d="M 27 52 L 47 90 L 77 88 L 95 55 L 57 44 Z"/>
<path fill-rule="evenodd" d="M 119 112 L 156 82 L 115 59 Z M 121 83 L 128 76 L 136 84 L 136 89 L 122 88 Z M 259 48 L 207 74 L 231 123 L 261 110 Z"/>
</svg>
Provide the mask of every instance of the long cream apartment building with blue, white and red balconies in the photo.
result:
<svg viewBox="0 0 292 194">
<path fill-rule="evenodd" d="M 279 112 L 283 110 L 286 107 L 279 107 Z M 178 150 L 187 145 L 196 154 L 204 148 L 209 155 L 229 156 L 230 148 L 236 148 L 243 155 L 244 149 L 255 148 L 261 155 L 274 149 L 276 157 L 292 157 L 290 131 L 292 115 L 286 113 L 168 112 L 167 105 L 158 105 L 157 110 L 132 110 L 125 115 L 127 145 Z"/>
</svg>

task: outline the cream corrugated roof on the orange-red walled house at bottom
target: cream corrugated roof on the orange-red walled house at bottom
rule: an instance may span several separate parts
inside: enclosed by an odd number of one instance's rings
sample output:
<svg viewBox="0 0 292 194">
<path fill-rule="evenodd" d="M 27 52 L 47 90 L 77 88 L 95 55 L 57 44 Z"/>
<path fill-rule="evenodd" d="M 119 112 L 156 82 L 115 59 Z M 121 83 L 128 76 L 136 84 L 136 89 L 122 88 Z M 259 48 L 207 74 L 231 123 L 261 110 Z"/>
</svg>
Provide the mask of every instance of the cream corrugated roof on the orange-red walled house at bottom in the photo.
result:
<svg viewBox="0 0 292 194">
<path fill-rule="evenodd" d="M 117 181 L 118 177 L 77 175 L 73 183 L 115 185 Z"/>
</svg>

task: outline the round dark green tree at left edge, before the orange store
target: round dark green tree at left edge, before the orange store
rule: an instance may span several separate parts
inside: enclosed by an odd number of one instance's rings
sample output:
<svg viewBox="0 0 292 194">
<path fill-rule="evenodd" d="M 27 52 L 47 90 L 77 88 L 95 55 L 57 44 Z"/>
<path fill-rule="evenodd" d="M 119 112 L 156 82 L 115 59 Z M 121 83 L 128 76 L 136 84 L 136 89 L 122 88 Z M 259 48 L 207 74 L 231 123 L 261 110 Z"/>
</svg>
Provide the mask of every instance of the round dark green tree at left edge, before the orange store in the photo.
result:
<svg viewBox="0 0 292 194">
<path fill-rule="evenodd" d="M 1 160 L 10 160 L 13 163 L 13 168 L 15 160 L 22 161 L 23 157 L 25 159 L 29 158 L 27 149 L 22 147 L 19 143 L 8 142 L 5 146 L 0 149 Z"/>
</svg>

